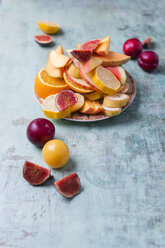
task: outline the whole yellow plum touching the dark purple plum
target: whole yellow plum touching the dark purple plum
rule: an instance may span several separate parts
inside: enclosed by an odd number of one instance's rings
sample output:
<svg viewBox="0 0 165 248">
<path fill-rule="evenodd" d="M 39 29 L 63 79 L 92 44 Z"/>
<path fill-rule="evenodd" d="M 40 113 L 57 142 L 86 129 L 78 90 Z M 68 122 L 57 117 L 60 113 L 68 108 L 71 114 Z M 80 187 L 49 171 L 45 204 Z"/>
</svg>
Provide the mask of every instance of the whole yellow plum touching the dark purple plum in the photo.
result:
<svg viewBox="0 0 165 248">
<path fill-rule="evenodd" d="M 42 156 L 51 168 L 61 168 L 69 160 L 69 148 L 63 141 L 53 139 L 44 145 Z"/>
</svg>

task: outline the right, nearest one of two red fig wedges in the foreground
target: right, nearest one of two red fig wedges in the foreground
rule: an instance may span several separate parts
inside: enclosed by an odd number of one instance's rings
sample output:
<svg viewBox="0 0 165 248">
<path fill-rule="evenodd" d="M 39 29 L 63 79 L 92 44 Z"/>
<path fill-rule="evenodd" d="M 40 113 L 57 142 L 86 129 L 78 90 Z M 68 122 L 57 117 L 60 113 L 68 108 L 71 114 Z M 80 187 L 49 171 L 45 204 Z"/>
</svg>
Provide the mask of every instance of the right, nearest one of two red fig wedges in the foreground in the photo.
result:
<svg viewBox="0 0 165 248">
<path fill-rule="evenodd" d="M 76 173 L 71 173 L 68 176 L 54 183 L 56 190 L 63 196 L 71 198 L 80 192 L 80 179 Z"/>
</svg>

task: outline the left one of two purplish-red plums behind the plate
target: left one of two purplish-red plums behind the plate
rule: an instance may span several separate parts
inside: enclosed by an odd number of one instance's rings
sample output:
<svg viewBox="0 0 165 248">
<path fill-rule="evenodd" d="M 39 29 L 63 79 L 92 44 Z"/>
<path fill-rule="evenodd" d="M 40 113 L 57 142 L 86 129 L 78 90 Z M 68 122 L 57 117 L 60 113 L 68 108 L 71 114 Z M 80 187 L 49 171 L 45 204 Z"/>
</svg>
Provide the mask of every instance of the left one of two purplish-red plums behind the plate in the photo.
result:
<svg viewBox="0 0 165 248">
<path fill-rule="evenodd" d="M 143 45 L 137 38 L 127 40 L 123 45 L 123 51 L 126 55 L 131 56 L 132 59 L 139 57 L 142 52 Z"/>
</svg>

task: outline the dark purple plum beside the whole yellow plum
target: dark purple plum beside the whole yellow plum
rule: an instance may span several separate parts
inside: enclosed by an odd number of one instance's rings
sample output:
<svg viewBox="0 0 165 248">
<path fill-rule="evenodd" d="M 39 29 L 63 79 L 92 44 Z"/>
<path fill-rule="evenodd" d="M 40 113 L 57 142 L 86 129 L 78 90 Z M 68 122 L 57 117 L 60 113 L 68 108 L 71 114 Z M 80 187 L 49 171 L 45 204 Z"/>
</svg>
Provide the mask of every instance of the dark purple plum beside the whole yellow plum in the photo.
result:
<svg viewBox="0 0 165 248">
<path fill-rule="evenodd" d="M 44 118 L 33 120 L 27 127 L 28 140 L 38 147 L 42 147 L 47 141 L 53 139 L 54 134 L 54 125 Z"/>
</svg>

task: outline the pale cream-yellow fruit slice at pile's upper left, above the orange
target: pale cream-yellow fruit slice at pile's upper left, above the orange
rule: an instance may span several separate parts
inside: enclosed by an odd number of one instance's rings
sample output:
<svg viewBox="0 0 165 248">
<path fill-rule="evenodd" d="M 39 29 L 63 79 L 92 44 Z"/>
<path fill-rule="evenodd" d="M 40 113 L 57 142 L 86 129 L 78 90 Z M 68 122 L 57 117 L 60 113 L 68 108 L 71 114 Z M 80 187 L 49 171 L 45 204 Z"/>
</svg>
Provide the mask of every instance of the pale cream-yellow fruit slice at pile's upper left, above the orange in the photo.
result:
<svg viewBox="0 0 165 248">
<path fill-rule="evenodd" d="M 50 51 L 50 61 L 54 67 L 61 68 L 70 62 L 70 58 L 54 50 Z"/>
</svg>

